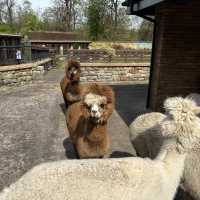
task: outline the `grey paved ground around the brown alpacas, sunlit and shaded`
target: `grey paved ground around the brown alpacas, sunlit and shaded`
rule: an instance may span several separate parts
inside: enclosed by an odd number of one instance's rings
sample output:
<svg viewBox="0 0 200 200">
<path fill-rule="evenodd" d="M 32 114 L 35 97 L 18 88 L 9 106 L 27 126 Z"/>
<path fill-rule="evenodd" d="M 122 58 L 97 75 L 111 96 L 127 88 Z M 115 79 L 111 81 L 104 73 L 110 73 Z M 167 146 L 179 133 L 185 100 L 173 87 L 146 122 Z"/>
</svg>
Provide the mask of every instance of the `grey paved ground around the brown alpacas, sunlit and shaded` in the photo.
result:
<svg viewBox="0 0 200 200">
<path fill-rule="evenodd" d="M 0 190 L 39 163 L 76 158 L 63 114 L 58 81 L 62 73 L 52 70 L 44 80 L 0 90 Z M 126 123 L 144 111 L 146 86 L 113 88 L 117 112 L 108 126 L 112 143 L 109 157 L 134 156 Z"/>
</svg>

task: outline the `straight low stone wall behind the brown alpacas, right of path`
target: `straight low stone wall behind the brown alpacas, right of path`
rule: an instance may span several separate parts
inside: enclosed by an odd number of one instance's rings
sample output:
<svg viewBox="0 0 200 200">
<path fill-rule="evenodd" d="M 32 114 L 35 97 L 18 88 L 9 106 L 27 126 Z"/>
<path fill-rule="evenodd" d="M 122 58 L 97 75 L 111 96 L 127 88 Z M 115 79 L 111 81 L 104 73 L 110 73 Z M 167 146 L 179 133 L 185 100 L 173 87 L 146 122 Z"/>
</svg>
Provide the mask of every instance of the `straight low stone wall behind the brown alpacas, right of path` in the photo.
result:
<svg viewBox="0 0 200 200">
<path fill-rule="evenodd" d="M 81 81 L 125 83 L 148 81 L 149 63 L 81 63 Z"/>
</svg>

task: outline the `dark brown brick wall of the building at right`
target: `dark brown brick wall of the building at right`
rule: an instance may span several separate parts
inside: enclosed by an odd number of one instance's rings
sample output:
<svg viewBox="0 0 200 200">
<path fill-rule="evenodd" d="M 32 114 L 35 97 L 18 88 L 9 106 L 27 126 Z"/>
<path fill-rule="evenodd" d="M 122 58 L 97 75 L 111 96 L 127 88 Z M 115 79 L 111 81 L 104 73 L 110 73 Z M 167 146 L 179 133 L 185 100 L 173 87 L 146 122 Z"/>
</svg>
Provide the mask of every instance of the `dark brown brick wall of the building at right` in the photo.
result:
<svg viewBox="0 0 200 200">
<path fill-rule="evenodd" d="M 162 110 L 166 97 L 200 93 L 200 2 L 177 2 L 156 8 L 152 110 Z"/>
</svg>

